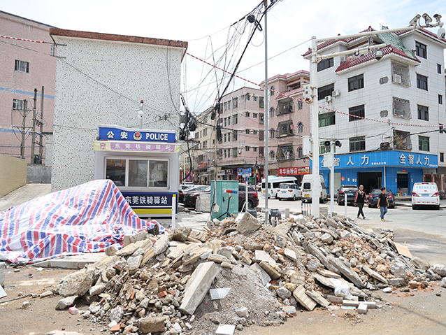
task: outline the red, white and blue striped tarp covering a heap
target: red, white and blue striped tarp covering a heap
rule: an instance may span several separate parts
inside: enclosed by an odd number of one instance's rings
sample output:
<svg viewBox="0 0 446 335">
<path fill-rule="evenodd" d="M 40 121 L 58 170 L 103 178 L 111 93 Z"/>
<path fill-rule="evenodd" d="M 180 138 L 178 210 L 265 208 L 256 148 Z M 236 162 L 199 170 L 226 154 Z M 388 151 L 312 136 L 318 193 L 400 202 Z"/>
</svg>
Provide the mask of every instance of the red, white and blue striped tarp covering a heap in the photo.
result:
<svg viewBox="0 0 446 335">
<path fill-rule="evenodd" d="M 41 262 L 123 245 L 124 235 L 166 229 L 142 220 L 111 180 L 93 180 L 0 213 L 0 260 Z"/>
</svg>

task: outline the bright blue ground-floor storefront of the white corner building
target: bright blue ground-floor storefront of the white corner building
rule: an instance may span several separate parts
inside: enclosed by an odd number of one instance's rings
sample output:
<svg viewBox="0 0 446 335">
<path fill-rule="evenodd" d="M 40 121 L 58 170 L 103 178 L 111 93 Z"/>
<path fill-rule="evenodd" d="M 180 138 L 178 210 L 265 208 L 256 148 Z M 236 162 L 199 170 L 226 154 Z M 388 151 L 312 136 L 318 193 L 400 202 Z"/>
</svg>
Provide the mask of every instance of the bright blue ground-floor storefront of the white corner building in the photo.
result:
<svg viewBox="0 0 446 335">
<path fill-rule="evenodd" d="M 330 170 L 319 157 L 320 173 L 330 185 Z M 333 159 L 335 192 L 340 185 L 364 185 L 366 193 L 382 186 L 395 194 L 410 195 L 414 183 L 424 181 L 424 176 L 436 173 L 438 157 L 398 150 L 361 152 L 335 155 Z"/>
</svg>

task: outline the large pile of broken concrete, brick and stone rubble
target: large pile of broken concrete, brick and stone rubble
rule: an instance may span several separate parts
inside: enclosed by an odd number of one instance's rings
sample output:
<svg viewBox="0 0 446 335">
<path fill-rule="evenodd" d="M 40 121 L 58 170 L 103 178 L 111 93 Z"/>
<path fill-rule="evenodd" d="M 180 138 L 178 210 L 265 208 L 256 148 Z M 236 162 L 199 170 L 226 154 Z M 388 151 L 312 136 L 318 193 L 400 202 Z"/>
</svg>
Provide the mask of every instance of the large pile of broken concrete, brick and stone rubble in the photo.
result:
<svg viewBox="0 0 446 335">
<path fill-rule="evenodd" d="M 233 334 L 317 306 L 367 313 L 380 308 L 379 292 L 446 277 L 446 266 L 412 257 L 391 230 L 373 234 L 341 215 L 272 224 L 262 215 L 126 236 L 124 248 L 52 288 L 63 297 L 56 308 L 82 299 L 81 318 L 116 334 Z"/>
</svg>

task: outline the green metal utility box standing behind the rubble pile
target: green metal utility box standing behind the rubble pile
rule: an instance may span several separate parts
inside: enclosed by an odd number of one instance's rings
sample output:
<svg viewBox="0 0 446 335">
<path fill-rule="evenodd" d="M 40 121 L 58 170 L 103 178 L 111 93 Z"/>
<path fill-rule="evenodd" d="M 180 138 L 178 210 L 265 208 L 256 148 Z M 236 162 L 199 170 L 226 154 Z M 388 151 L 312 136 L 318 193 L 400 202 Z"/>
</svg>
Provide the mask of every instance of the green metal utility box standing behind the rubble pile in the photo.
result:
<svg viewBox="0 0 446 335">
<path fill-rule="evenodd" d="M 223 220 L 238 215 L 238 181 L 211 180 L 210 181 L 210 213 L 211 218 Z"/>
</svg>

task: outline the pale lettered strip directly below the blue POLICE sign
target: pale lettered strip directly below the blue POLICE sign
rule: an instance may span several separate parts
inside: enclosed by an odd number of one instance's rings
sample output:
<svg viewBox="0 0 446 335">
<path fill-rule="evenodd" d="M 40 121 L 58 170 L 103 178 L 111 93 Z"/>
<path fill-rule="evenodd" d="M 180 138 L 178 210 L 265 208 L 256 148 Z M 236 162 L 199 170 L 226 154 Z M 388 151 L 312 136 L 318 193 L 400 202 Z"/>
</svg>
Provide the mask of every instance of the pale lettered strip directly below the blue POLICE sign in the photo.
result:
<svg viewBox="0 0 446 335">
<path fill-rule="evenodd" d="M 136 142 L 136 141 L 93 141 L 94 150 L 112 152 L 179 152 L 180 143 Z"/>
</svg>

